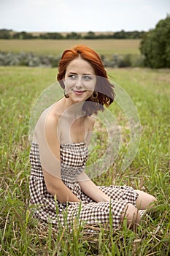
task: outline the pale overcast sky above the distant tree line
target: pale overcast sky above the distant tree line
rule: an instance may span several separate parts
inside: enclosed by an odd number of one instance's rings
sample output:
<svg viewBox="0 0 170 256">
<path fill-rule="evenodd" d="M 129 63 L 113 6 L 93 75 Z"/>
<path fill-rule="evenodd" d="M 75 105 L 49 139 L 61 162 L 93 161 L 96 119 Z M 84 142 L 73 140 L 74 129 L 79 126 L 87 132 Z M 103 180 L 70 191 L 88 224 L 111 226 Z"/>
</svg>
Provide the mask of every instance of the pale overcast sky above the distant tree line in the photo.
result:
<svg viewBox="0 0 170 256">
<path fill-rule="evenodd" d="M 148 31 L 168 14 L 170 0 L 0 0 L 0 29 Z"/>
</svg>

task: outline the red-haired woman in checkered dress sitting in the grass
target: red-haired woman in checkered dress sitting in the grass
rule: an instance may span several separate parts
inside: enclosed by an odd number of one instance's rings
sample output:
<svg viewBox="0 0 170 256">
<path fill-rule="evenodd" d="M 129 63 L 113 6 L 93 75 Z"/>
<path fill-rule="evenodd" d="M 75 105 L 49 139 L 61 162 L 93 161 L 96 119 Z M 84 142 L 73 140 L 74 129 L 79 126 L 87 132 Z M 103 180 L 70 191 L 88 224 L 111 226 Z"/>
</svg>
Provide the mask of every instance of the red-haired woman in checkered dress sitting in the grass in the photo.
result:
<svg viewBox="0 0 170 256">
<path fill-rule="evenodd" d="M 85 174 L 93 113 L 104 110 L 115 97 L 100 57 L 85 45 L 65 50 L 57 78 L 64 97 L 42 113 L 31 144 L 34 217 L 64 224 L 66 211 L 71 224 L 79 212 L 81 221 L 98 225 L 109 222 L 111 209 L 114 228 L 124 217 L 128 225 L 139 223 L 138 210 L 149 208 L 155 197 L 131 187 L 97 187 Z"/>
</svg>

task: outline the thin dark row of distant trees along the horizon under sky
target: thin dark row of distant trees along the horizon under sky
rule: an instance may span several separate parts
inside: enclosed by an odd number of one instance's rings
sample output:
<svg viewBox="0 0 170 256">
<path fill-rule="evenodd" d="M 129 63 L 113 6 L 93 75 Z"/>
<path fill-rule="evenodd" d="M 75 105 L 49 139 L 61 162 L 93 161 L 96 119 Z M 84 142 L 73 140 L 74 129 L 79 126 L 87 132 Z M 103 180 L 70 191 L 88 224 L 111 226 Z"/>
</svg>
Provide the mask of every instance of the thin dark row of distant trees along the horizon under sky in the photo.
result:
<svg viewBox="0 0 170 256">
<path fill-rule="evenodd" d="M 70 32 L 66 34 L 58 32 L 28 33 L 26 31 L 15 32 L 10 29 L 0 29 L 0 39 L 141 39 L 144 31 L 117 31 L 110 33 L 87 33 Z"/>
</svg>

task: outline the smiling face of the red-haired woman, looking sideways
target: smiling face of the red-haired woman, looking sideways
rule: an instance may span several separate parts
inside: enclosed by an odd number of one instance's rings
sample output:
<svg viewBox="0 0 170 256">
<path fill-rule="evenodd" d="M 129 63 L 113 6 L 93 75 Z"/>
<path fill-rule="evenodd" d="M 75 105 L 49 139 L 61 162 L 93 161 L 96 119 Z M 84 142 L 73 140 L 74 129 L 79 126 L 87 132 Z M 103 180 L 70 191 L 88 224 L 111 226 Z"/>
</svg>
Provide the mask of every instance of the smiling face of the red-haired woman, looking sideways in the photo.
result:
<svg viewBox="0 0 170 256">
<path fill-rule="evenodd" d="M 96 75 L 88 61 L 78 57 L 69 63 L 63 79 L 65 93 L 73 102 L 82 102 L 88 99 L 95 89 Z"/>
</svg>

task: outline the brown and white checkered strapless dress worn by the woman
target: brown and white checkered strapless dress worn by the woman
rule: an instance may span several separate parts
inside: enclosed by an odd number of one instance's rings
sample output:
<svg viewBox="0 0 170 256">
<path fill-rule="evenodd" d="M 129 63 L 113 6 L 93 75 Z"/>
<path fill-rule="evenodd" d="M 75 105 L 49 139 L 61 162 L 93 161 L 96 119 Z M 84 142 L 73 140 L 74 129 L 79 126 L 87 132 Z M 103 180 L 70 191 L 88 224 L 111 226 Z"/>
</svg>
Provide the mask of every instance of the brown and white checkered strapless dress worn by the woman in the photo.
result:
<svg viewBox="0 0 170 256">
<path fill-rule="evenodd" d="M 39 159 L 39 146 L 31 144 L 31 176 L 30 196 L 31 204 L 34 205 L 34 217 L 42 222 L 52 222 L 54 225 L 71 224 L 79 215 L 81 222 L 87 225 L 109 222 L 109 212 L 112 212 L 112 225 L 114 228 L 120 225 L 120 216 L 127 203 L 135 205 L 138 194 L 131 187 L 109 186 L 99 187 L 104 193 L 112 198 L 111 202 L 94 202 L 85 195 L 76 181 L 76 176 L 85 169 L 88 159 L 88 148 L 84 142 L 61 145 L 61 178 L 69 189 L 80 200 L 80 203 L 59 203 L 55 197 L 47 192 L 42 166 Z M 65 216 L 65 217 L 64 217 Z"/>
</svg>

